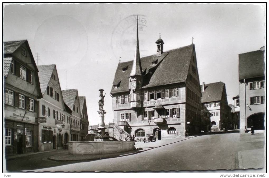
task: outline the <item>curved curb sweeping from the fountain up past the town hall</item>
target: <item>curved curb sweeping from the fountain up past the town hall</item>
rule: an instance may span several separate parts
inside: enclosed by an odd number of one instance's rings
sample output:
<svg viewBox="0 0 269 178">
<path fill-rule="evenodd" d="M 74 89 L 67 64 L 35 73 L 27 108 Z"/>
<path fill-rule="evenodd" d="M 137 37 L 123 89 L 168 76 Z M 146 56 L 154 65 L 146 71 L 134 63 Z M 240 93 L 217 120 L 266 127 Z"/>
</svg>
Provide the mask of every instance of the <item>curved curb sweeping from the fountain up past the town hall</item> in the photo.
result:
<svg viewBox="0 0 269 178">
<path fill-rule="evenodd" d="M 194 138 L 194 137 L 197 137 L 197 136 L 192 136 L 192 137 L 186 138 L 184 140 L 188 140 L 188 139 Z M 176 142 L 173 142 L 173 143 L 177 143 L 177 142 L 184 141 L 184 140 L 179 140 L 179 141 L 176 141 Z M 147 148 L 144 148 L 144 149 L 143 148 L 138 148 L 138 149 L 142 149 L 142 150 L 141 151 L 137 151 L 137 152 L 133 152 L 133 153 L 123 152 L 123 153 L 126 153 L 126 154 L 120 154 L 120 155 L 115 155 L 117 153 L 103 154 L 103 155 L 92 155 L 93 157 L 92 158 L 89 158 L 89 159 L 68 159 L 68 160 L 62 160 L 62 159 L 55 159 L 55 158 L 53 158 L 53 156 L 49 156 L 48 159 L 49 160 L 52 160 L 52 161 L 61 161 L 61 162 L 64 162 L 64 161 L 87 161 L 87 160 L 96 160 L 96 159 L 115 158 L 115 157 L 122 157 L 122 156 L 134 155 L 134 154 L 137 154 L 137 153 L 148 151 L 148 150 L 151 150 L 151 149 L 154 149 L 154 148 L 163 147 L 163 146 L 170 145 L 170 144 L 173 144 L 173 143 L 168 143 L 168 144 L 161 145 L 161 146 L 158 146 L 158 147 L 151 147 L 151 148 L 148 148 L 148 149 Z"/>
</svg>

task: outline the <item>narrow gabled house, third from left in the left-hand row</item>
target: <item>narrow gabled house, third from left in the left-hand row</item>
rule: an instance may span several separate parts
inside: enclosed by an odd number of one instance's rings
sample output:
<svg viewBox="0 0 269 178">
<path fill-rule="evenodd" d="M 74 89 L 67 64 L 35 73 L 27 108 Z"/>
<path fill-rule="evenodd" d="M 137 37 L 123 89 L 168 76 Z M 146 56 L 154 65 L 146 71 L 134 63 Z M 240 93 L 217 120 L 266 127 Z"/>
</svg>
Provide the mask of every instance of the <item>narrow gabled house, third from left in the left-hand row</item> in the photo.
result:
<svg viewBox="0 0 269 178">
<path fill-rule="evenodd" d="M 70 140 L 80 141 L 80 103 L 77 89 L 62 90 L 63 101 L 72 110 L 70 118 Z"/>
</svg>

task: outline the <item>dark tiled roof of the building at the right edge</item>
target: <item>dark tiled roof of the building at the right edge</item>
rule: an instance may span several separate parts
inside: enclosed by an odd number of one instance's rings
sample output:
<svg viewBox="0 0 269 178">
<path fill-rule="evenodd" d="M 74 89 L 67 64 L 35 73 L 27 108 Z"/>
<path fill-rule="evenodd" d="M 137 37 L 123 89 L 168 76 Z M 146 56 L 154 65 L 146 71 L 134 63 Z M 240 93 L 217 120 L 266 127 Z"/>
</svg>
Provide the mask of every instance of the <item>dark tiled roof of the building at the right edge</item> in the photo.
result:
<svg viewBox="0 0 269 178">
<path fill-rule="evenodd" d="M 264 76 L 264 51 L 239 54 L 239 80 Z"/>
</svg>

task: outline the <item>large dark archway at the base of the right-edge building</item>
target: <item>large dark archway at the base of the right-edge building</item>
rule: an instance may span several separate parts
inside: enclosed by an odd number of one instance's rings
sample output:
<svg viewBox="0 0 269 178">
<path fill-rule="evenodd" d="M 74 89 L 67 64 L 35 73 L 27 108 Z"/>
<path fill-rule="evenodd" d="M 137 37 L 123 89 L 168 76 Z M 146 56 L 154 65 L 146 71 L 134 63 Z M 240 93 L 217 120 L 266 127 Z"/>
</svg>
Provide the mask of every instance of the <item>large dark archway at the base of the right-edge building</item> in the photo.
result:
<svg viewBox="0 0 269 178">
<path fill-rule="evenodd" d="M 264 113 L 255 113 L 247 118 L 247 128 L 253 126 L 254 130 L 264 130 Z"/>
</svg>

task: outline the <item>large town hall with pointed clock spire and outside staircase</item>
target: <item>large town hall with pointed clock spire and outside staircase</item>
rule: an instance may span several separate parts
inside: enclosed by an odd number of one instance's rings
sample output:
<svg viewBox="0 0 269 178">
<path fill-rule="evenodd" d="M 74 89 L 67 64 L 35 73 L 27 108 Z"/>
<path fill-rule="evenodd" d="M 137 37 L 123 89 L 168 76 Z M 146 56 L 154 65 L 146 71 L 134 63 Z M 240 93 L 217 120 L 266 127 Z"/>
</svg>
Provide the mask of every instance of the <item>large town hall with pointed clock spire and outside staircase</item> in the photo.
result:
<svg viewBox="0 0 269 178">
<path fill-rule="evenodd" d="M 118 64 L 111 88 L 114 123 L 111 136 L 143 138 L 155 134 L 160 140 L 182 136 L 186 129 L 200 131 L 201 90 L 194 44 L 140 59 L 139 40 L 134 59 Z"/>
</svg>

